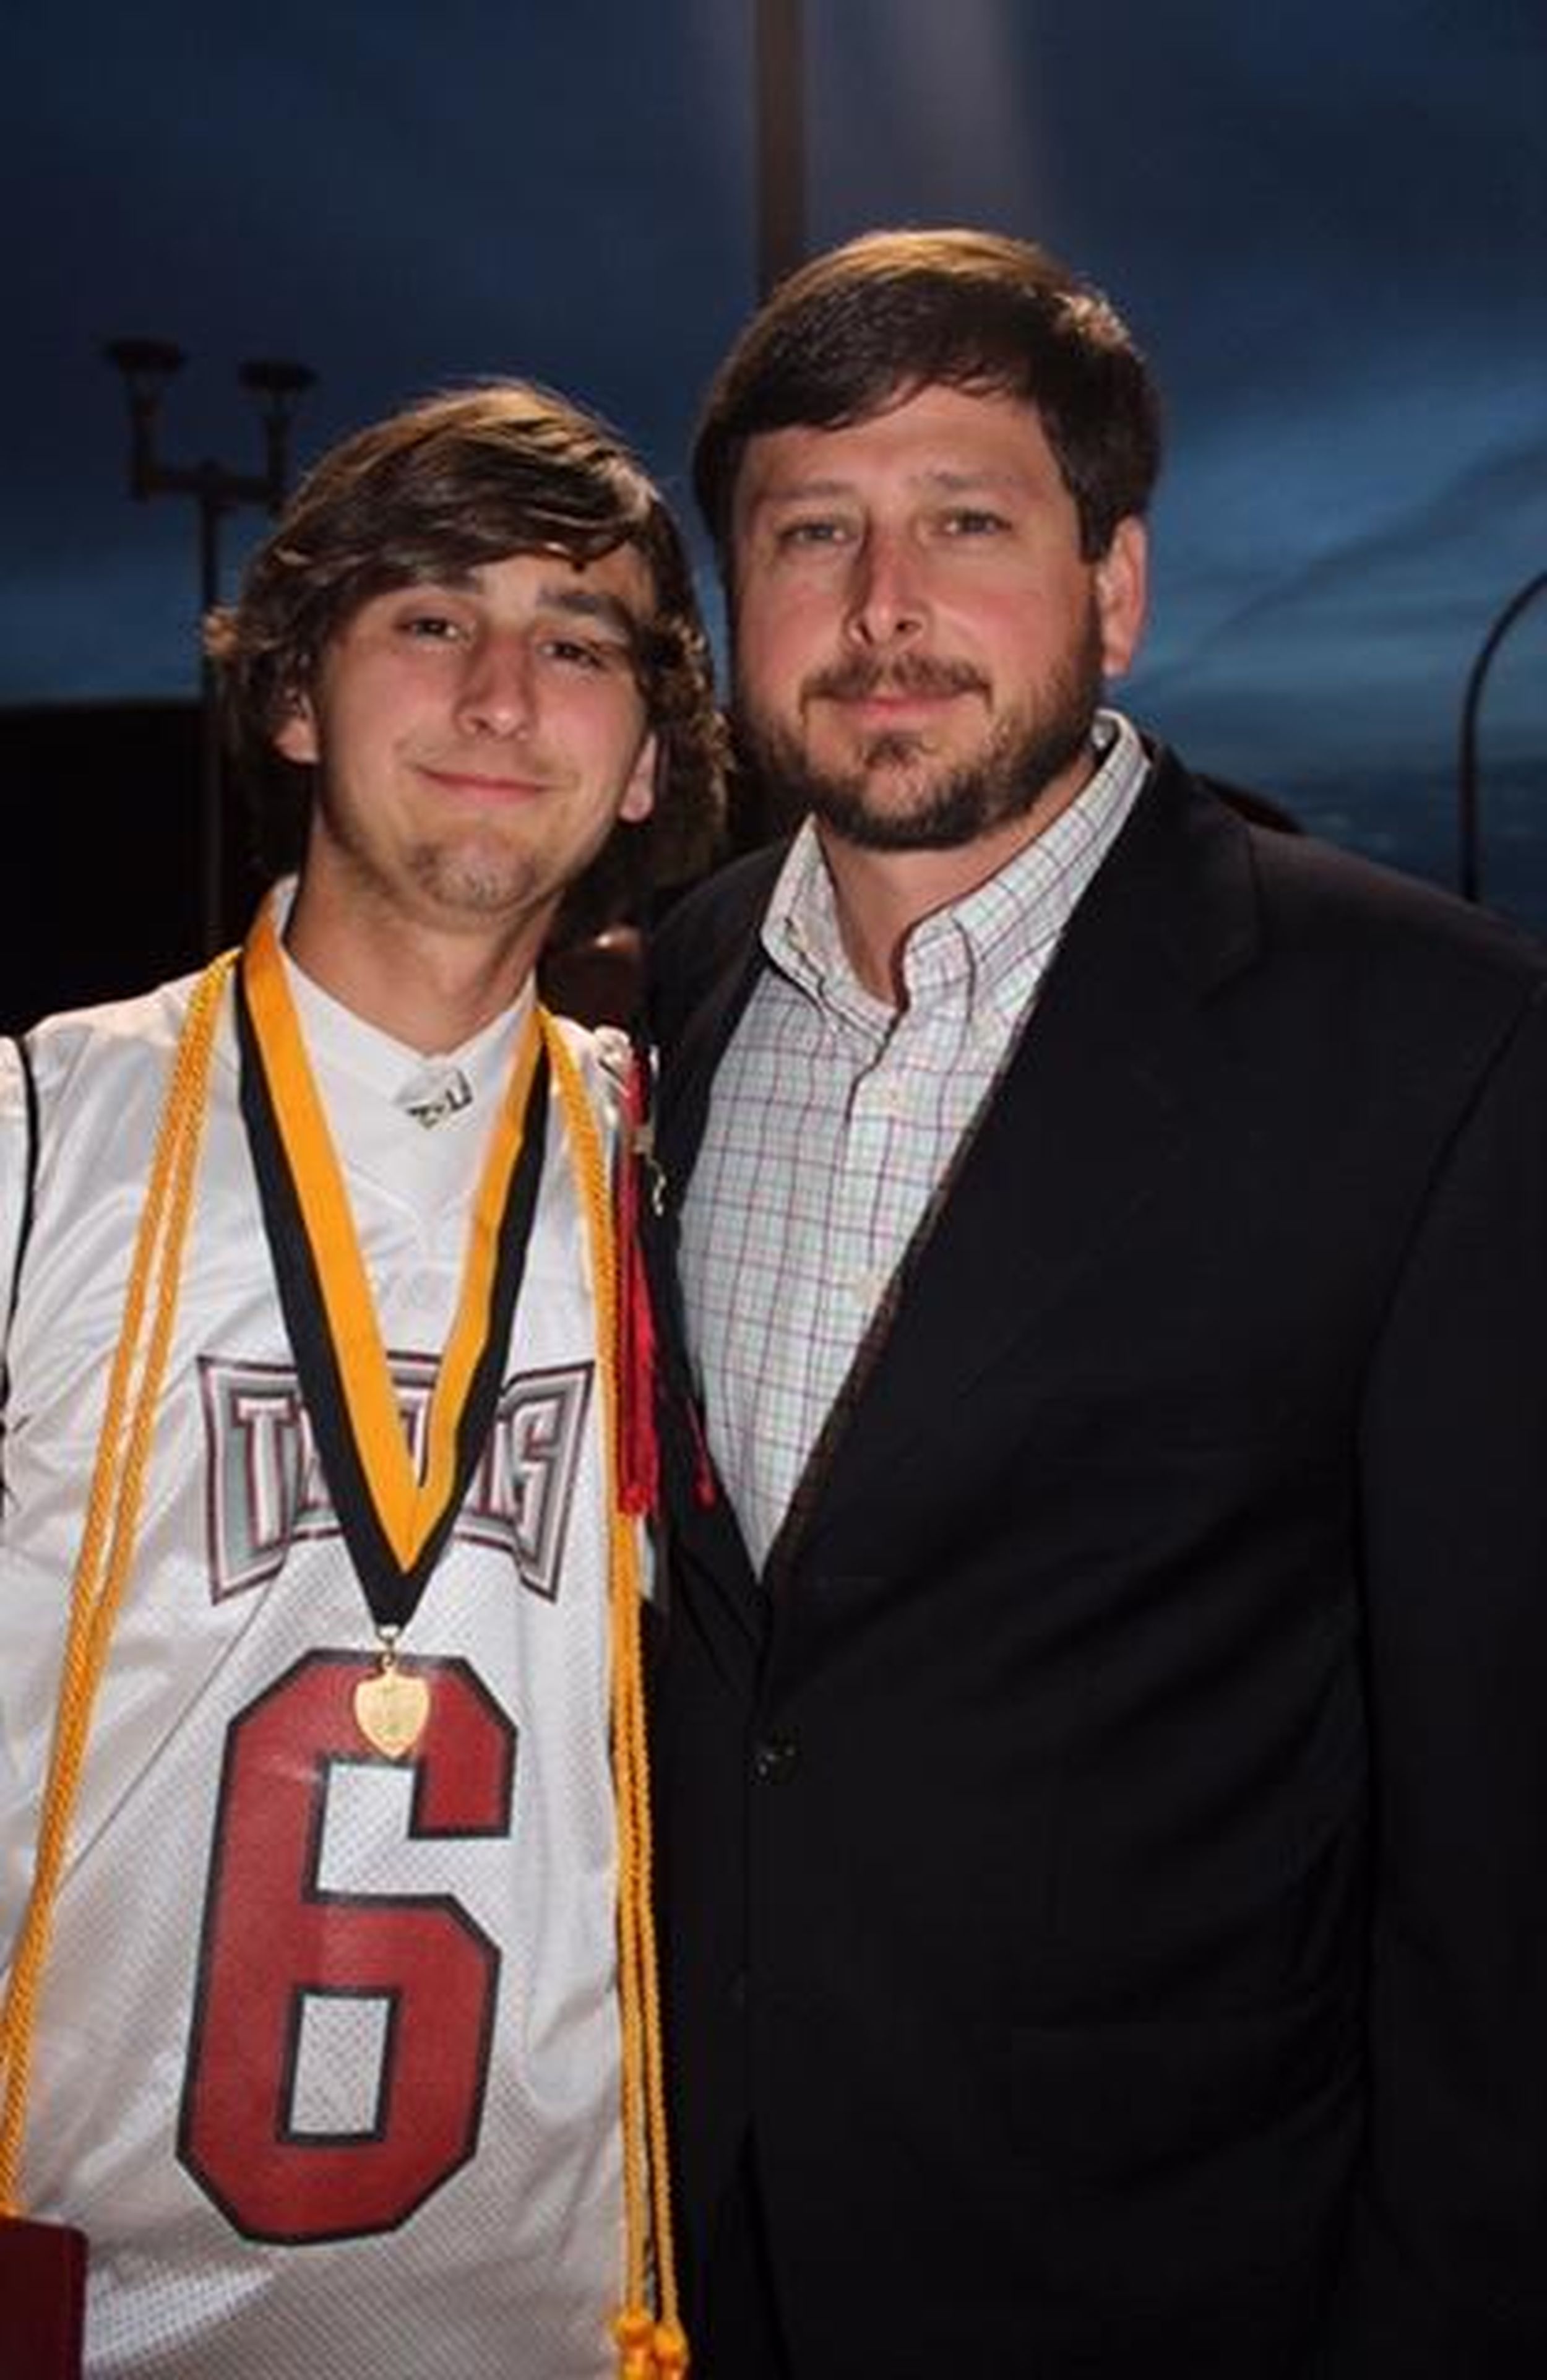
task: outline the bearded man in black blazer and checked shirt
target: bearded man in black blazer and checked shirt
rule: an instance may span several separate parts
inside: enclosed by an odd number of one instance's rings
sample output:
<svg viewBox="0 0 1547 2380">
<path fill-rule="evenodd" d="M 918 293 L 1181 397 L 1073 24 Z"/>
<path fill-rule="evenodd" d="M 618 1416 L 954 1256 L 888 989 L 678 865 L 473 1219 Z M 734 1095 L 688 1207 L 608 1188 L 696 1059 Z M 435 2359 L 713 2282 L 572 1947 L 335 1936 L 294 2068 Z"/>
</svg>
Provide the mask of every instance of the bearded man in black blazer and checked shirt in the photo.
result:
<svg viewBox="0 0 1547 2380">
<path fill-rule="evenodd" d="M 1102 709 L 1154 466 L 966 231 L 797 271 L 700 433 L 804 812 L 659 947 L 707 2380 L 1547 2351 L 1547 962 Z"/>
</svg>

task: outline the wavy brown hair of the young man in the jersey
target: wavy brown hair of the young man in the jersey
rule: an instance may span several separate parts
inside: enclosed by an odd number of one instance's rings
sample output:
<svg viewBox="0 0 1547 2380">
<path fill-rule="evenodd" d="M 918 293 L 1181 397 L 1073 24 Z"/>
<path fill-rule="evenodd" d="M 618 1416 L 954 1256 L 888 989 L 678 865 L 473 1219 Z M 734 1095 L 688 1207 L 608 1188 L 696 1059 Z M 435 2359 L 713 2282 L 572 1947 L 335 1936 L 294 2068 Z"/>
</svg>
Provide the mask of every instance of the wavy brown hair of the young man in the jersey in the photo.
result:
<svg viewBox="0 0 1547 2380">
<path fill-rule="evenodd" d="M 664 878 L 688 873 L 714 835 L 721 795 L 714 669 L 688 555 L 654 483 L 607 424 L 526 381 L 426 397 L 314 464 L 252 557 L 240 600 L 205 626 L 238 759 L 259 781 L 274 778 L 278 726 L 309 690 L 328 640 L 371 595 L 507 555 L 595 562 L 619 545 L 643 555 L 654 588 L 635 650 L 659 740 L 650 857 Z"/>
</svg>

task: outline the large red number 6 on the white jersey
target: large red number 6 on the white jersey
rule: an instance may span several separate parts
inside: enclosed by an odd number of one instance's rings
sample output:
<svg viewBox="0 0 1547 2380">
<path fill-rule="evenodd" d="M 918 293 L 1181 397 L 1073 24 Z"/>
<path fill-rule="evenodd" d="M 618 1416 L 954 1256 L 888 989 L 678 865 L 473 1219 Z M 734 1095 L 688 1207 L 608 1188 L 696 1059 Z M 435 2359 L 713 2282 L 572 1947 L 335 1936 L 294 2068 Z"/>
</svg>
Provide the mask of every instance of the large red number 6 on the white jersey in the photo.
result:
<svg viewBox="0 0 1547 2380">
<path fill-rule="evenodd" d="M 226 1735 L 178 2159 L 248 2240 L 395 2230 L 478 2144 L 500 1952 L 445 1892 L 324 1878 L 381 1773 L 402 1844 L 509 1835 L 512 1721 L 464 1661 L 400 1666 L 431 1687 L 400 1764 L 355 1726 L 357 1652 L 307 1654 Z"/>
</svg>

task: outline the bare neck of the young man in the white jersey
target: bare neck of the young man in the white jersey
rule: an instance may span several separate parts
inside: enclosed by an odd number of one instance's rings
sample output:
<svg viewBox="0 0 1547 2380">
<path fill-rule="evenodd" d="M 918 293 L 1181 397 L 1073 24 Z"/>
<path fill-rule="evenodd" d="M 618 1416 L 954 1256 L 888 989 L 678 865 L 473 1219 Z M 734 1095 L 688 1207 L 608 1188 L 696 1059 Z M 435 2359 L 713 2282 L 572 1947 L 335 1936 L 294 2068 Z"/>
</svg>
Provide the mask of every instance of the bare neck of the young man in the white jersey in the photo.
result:
<svg viewBox="0 0 1547 2380">
<path fill-rule="evenodd" d="M 547 919 L 526 919 L 500 935 L 438 933 L 395 916 L 388 931 L 371 931 L 362 904 L 347 933 L 331 933 L 302 878 L 283 940 L 331 1000 L 431 1057 L 459 1050 L 519 1000 L 545 926 Z"/>
</svg>

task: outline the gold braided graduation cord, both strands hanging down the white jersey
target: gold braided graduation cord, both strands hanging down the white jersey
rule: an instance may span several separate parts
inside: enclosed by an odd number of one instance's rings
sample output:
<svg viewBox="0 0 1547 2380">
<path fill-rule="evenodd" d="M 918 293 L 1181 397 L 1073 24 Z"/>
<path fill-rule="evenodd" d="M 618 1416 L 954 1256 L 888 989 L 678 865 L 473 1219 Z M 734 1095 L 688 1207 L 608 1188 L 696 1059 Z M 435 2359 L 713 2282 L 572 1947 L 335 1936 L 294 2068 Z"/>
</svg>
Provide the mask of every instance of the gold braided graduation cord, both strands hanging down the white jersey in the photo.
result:
<svg viewBox="0 0 1547 2380">
<path fill-rule="evenodd" d="M 48 1959 L 52 1914 L 64 1873 L 69 1825 L 79 1797 L 86 1737 L 112 1626 L 124 1599 L 138 1511 L 150 1461 L 181 1254 L 193 1204 L 193 1180 L 207 1109 L 209 1057 L 221 992 L 236 952 L 205 969 L 193 988 L 178 1038 L 171 1085 L 157 1130 L 145 1207 L 136 1238 L 124 1321 L 107 1383 L 107 1409 L 86 1507 L 86 1533 L 71 1592 L 69 1635 L 55 1714 L 55 1740 L 43 1790 L 33 1890 L 21 1921 L 17 1954 L 0 2011 L 0 2213 L 17 2213 L 21 2140 L 31 2082 L 31 2049 L 38 1985 Z M 616 1492 L 619 1457 L 619 1266 L 602 1145 L 590 1102 L 562 1035 L 540 1016 L 590 1242 L 590 1276 L 602 1380 L 602 1457 L 609 1497 L 609 1604 L 612 1604 L 612 1735 L 619 1833 L 619 2002 L 621 2002 L 621 2125 L 624 2125 L 624 2311 L 614 2323 L 619 2380 L 674 2380 L 688 2368 L 688 2342 L 678 2320 L 676 2256 L 671 2237 L 671 2180 L 666 2161 L 666 2109 L 662 2021 L 650 1904 L 650 1771 L 645 1752 L 645 1690 L 640 1659 L 640 1557 L 638 1523 Z M 512 1102 L 514 1107 L 514 1102 Z M 519 1114 L 519 1107 L 516 1107 Z M 631 1161 L 626 1152 L 624 1161 Z M 145 1309 L 150 1340 L 140 1361 Z M 138 1392 L 133 1390 L 138 1366 Z M 129 1411 L 133 1395 L 133 1411 Z M 129 1416 L 129 1418 L 126 1418 Z M 107 1568 L 105 1568 L 107 1566 Z M 105 1576 L 102 1576 L 105 1571 Z M 654 2273 L 659 2320 L 647 2309 L 647 2242 L 654 2218 Z"/>
</svg>

